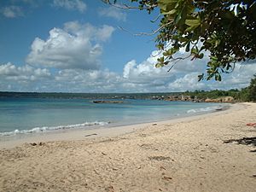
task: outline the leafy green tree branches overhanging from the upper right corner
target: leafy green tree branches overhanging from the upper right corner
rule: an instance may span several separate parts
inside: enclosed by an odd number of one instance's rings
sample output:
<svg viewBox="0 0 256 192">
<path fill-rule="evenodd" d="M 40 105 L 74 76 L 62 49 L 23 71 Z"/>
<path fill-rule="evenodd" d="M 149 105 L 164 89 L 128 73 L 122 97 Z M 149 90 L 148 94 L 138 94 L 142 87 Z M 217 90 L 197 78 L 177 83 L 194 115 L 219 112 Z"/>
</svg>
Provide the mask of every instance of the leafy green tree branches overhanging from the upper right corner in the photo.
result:
<svg viewBox="0 0 256 192">
<path fill-rule="evenodd" d="M 117 0 L 102 0 L 115 4 Z M 184 57 L 175 57 L 185 49 L 191 60 L 209 57 L 207 73 L 201 79 L 220 81 L 222 73 L 233 71 L 237 61 L 256 58 L 255 0 L 127 0 L 123 9 L 160 10 L 155 42 L 163 56 L 156 67 L 173 65 Z M 206 53 L 208 53 L 206 55 Z M 187 58 L 186 57 L 186 58 Z M 173 64 L 174 63 L 174 64 Z M 171 67 L 171 68 L 172 68 Z"/>
</svg>

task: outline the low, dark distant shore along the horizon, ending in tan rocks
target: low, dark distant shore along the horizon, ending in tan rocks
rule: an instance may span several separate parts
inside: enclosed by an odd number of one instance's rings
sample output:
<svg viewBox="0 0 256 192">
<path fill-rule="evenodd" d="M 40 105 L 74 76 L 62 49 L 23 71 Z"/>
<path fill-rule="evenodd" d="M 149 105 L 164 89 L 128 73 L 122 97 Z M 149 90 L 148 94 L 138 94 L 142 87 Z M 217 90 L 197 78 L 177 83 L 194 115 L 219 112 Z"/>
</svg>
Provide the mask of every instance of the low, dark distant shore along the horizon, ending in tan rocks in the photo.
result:
<svg viewBox="0 0 256 192">
<path fill-rule="evenodd" d="M 207 91 L 206 91 L 207 93 Z M 192 95 L 191 95 L 192 94 Z M 0 99 L 41 98 L 41 99 L 90 99 L 93 101 L 115 101 L 126 99 L 164 100 L 169 102 L 241 102 L 233 96 L 202 97 L 195 92 L 148 92 L 148 93 L 65 93 L 65 92 L 9 92 L 0 91 Z M 110 102 L 109 102 L 110 103 Z"/>
</svg>

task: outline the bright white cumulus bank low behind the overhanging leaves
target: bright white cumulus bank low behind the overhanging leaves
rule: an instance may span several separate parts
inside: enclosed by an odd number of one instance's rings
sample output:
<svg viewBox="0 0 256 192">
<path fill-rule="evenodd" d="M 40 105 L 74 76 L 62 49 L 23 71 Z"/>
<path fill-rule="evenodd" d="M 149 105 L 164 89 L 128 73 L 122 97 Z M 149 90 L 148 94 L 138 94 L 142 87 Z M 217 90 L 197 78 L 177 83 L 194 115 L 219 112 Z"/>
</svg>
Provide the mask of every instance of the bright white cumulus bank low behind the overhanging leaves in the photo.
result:
<svg viewBox="0 0 256 192">
<path fill-rule="evenodd" d="M 182 56 L 178 53 L 176 56 Z M 236 64 L 233 73 L 223 74 L 223 81 L 198 82 L 197 75 L 206 70 L 208 58 L 190 61 L 182 60 L 172 68 L 170 72 L 167 67 L 155 68 L 154 64 L 160 53 L 154 51 L 146 61 L 137 64 L 129 61 L 125 64 L 123 71 L 124 87 L 130 90 L 142 91 L 185 91 L 185 90 L 230 90 L 246 87 L 253 74 L 256 72 L 256 62 Z M 171 66 L 169 66 L 171 67 Z"/>
</svg>

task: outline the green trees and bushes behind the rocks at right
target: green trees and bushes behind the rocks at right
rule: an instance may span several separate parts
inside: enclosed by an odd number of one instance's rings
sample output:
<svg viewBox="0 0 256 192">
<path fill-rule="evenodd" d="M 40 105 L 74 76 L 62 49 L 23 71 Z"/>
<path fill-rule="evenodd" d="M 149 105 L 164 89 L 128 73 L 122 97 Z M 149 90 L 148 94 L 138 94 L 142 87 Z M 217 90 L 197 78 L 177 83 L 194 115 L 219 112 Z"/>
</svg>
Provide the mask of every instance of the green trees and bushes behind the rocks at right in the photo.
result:
<svg viewBox="0 0 256 192">
<path fill-rule="evenodd" d="M 191 96 L 191 98 L 198 99 L 216 99 L 222 96 L 232 96 L 237 102 L 256 102 L 256 75 L 251 79 L 251 83 L 246 88 L 241 90 L 195 90 L 186 91 L 184 95 Z"/>
</svg>

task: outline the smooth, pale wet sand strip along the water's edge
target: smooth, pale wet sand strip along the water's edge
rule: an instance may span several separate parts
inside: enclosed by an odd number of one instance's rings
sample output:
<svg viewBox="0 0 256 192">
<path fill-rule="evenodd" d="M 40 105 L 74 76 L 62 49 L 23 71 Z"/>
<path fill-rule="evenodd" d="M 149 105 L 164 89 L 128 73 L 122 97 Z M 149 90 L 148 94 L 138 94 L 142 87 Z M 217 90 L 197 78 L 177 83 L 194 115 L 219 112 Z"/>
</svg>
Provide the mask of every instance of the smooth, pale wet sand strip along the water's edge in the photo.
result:
<svg viewBox="0 0 256 192">
<path fill-rule="evenodd" d="M 220 103 L 221 104 L 221 103 Z M 238 107 L 239 106 L 239 107 Z M 201 119 L 215 113 L 225 113 L 226 111 L 234 108 L 242 108 L 242 103 L 230 104 L 229 106 L 222 106 L 221 110 L 214 110 L 209 112 L 198 112 L 190 114 L 183 114 L 183 116 L 173 116 L 171 119 L 159 119 L 147 122 L 131 123 L 122 125 L 109 124 L 109 125 L 98 125 L 96 128 L 75 128 L 66 130 L 52 130 L 38 133 L 26 133 L 16 136 L 3 136 L 0 137 L 0 149 L 3 148 L 15 148 L 24 143 L 42 143 L 42 142 L 57 142 L 57 141 L 76 141 L 83 139 L 90 139 L 96 137 L 118 137 L 123 134 L 131 133 L 142 129 L 145 126 L 152 124 L 167 124 L 167 123 L 178 123 L 181 121 L 189 121 L 194 119 Z M 87 138 L 86 138 L 87 137 Z"/>
</svg>

